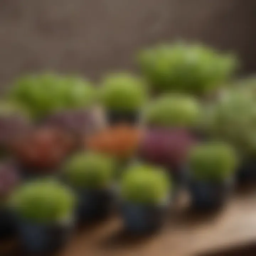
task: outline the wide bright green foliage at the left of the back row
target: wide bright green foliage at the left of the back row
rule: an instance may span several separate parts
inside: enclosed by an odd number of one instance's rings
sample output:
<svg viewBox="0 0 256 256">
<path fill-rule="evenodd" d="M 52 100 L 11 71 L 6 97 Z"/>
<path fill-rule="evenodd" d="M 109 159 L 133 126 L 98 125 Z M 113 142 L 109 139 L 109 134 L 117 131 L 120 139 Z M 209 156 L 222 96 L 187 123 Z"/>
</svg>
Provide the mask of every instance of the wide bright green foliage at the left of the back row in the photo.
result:
<svg viewBox="0 0 256 256">
<path fill-rule="evenodd" d="M 87 107 L 94 101 L 94 94 L 90 83 L 82 78 L 46 73 L 17 79 L 10 98 L 40 119 L 66 108 Z"/>
</svg>

